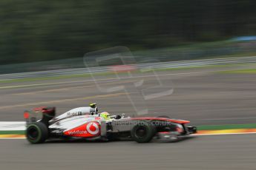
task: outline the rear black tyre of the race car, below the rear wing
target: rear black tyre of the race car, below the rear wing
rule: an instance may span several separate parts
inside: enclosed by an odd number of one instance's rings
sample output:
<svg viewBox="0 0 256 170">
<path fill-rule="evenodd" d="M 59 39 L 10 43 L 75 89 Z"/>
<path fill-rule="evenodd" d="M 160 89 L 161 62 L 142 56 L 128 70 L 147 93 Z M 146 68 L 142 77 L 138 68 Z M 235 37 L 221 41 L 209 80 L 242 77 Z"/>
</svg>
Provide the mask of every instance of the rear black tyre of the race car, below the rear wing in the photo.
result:
<svg viewBox="0 0 256 170">
<path fill-rule="evenodd" d="M 47 136 L 48 129 L 44 123 L 36 122 L 27 126 L 26 137 L 30 143 L 44 143 Z"/>
</svg>

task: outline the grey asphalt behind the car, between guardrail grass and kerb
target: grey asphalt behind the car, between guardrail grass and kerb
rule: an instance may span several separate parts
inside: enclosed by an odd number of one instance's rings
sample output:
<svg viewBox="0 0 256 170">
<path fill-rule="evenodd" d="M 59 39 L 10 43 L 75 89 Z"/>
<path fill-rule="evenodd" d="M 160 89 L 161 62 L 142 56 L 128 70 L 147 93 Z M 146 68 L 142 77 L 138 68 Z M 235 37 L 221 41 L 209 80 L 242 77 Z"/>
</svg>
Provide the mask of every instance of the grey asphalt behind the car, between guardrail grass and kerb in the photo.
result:
<svg viewBox="0 0 256 170">
<path fill-rule="evenodd" d="M 137 111 L 148 109 L 148 114 L 139 116 L 168 115 L 194 125 L 255 123 L 256 74 L 213 72 L 245 68 L 249 67 L 108 75 L 96 81 L 66 78 L 1 83 L 0 120 L 23 120 L 23 111 L 37 106 L 56 106 L 61 114 L 96 102 L 100 111 L 115 115 L 137 116 Z"/>
</svg>

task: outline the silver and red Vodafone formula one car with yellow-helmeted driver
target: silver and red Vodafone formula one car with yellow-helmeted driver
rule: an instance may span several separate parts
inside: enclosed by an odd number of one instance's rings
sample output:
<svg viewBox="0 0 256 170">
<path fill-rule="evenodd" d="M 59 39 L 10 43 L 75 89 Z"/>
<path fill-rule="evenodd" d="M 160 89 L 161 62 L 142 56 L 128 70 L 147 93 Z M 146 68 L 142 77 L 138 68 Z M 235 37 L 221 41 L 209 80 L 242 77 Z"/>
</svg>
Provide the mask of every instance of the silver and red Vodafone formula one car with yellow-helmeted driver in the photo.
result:
<svg viewBox="0 0 256 170">
<path fill-rule="evenodd" d="M 42 118 L 36 115 L 42 113 Z M 176 141 L 180 137 L 197 132 L 194 126 L 186 126 L 187 120 L 170 118 L 130 118 L 122 115 L 98 113 L 96 107 L 79 107 L 55 117 L 54 107 L 39 107 L 25 111 L 26 137 L 30 143 L 62 138 L 71 140 L 122 140 L 131 139 L 138 143 L 157 140 Z"/>
</svg>

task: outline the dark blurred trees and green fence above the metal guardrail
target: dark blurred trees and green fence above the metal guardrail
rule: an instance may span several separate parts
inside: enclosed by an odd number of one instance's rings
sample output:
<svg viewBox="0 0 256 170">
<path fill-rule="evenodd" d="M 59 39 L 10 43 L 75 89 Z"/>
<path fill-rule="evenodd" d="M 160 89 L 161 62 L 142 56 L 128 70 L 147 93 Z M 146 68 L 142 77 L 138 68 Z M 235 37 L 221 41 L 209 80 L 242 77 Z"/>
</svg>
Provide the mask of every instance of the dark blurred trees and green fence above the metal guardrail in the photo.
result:
<svg viewBox="0 0 256 170">
<path fill-rule="evenodd" d="M 116 46 L 139 63 L 256 54 L 254 0 L 3 0 L 0 8 L 0 73 L 85 67 L 85 53 Z"/>
</svg>

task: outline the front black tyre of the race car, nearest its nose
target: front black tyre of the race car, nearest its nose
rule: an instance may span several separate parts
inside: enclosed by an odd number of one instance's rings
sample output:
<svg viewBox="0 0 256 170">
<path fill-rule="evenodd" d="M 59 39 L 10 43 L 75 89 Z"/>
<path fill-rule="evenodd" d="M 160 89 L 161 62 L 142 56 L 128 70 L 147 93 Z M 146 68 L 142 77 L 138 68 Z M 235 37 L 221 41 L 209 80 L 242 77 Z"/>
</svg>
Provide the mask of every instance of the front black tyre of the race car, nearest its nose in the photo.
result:
<svg viewBox="0 0 256 170">
<path fill-rule="evenodd" d="M 140 121 L 131 129 L 131 137 L 137 143 L 148 143 L 155 134 L 155 127 L 147 121 Z"/>
</svg>

